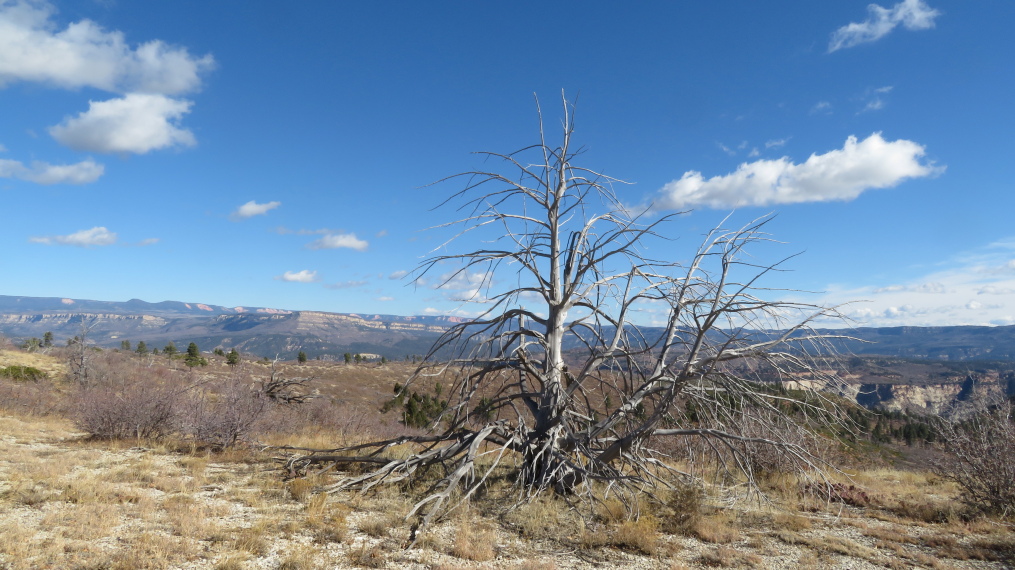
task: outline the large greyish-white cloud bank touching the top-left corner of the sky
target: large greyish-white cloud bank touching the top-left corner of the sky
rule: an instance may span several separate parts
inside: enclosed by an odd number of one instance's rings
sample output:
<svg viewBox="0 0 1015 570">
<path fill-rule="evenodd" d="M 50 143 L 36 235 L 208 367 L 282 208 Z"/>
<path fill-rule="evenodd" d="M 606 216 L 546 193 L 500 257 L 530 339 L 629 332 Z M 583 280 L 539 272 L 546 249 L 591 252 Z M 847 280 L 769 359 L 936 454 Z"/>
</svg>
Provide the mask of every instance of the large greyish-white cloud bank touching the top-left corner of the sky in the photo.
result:
<svg viewBox="0 0 1015 570">
<path fill-rule="evenodd" d="M 48 2 L 0 4 L 0 87 L 31 81 L 67 89 L 178 94 L 196 90 L 214 67 L 210 55 L 155 40 L 127 45 L 120 31 L 91 20 L 58 29 Z"/>
</svg>

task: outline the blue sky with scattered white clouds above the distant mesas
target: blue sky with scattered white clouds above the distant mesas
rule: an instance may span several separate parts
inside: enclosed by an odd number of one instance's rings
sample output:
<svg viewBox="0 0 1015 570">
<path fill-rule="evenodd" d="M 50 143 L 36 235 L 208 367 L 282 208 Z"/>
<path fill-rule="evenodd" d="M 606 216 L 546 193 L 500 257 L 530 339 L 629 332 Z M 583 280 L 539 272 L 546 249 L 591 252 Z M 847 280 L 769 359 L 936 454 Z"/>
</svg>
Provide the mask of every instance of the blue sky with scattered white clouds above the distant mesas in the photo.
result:
<svg viewBox="0 0 1015 570">
<path fill-rule="evenodd" d="M 0 0 L 0 294 L 461 313 L 431 210 L 578 97 L 632 205 L 735 210 L 870 326 L 1015 325 L 1015 4 Z M 467 281 L 467 280 L 466 280 Z M 468 289 L 468 282 L 453 284 Z"/>
</svg>

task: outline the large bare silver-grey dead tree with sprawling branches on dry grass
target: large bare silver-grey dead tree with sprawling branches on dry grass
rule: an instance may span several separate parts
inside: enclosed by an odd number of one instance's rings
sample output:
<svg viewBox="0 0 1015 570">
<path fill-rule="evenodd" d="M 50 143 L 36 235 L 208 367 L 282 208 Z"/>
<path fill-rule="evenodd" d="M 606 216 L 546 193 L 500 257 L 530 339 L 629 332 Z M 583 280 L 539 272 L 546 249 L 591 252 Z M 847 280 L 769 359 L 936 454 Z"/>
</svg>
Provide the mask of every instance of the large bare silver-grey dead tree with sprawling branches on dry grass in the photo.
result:
<svg viewBox="0 0 1015 570">
<path fill-rule="evenodd" d="M 679 475 L 667 462 L 667 440 L 702 440 L 699 448 L 715 451 L 724 469 L 748 476 L 759 445 L 798 465 L 816 461 L 796 432 L 838 416 L 820 393 L 834 379 L 829 363 L 810 356 L 828 337 L 810 324 L 837 312 L 766 298 L 781 293 L 759 279 L 779 264 L 745 255 L 769 240 L 765 219 L 716 228 L 682 261 L 650 257 L 648 247 L 672 244 L 664 229 L 677 214 L 631 213 L 614 193 L 620 181 L 578 165 L 573 105 L 563 105 L 559 144 L 546 141 L 540 114 L 537 144 L 482 153 L 507 173 L 441 181 L 465 181 L 443 204 L 457 203 L 460 219 L 437 226 L 461 231 L 416 275 L 457 267 L 445 282 L 481 281 L 466 300 L 483 308 L 445 333 L 403 388 L 451 380 L 432 435 L 302 450 L 288 458 L 290 473 L 374 466 L 330 487 L 365 491 L 443 469 L 408 515 L 419 528 L 468 500 L 500 465 L 516 470 L 516 504 L 552 490 L 586 507 L 615 494 L 633 509 Z M 444 253 L 472 236 L 478 247 Z M 640 326 L 644 309 L 658 310 L 661 324 Z M 804 389 L 766 384 L 762 372 Z M 403 443 L 418 448 L 385 457 Z"/>
</svg>

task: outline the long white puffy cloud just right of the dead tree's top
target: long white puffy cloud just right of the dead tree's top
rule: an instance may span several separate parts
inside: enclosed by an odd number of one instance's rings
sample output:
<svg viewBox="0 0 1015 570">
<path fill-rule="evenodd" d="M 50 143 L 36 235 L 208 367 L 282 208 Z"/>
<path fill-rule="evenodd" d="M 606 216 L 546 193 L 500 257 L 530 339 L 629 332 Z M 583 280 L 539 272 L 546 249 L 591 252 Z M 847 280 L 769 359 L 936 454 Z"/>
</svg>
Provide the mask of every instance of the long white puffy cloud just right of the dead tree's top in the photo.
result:
<svg viewBox="0 0 1015 570">
<path fill-rule="evenodd" d="M 689 170 L 660 190 L 654 208 L 681 209 L 767 206 L 853 200 L 867 190 L 890 188 L 905 179 L 944 170 L 921 163 L 924 147 L 912 141 L 886 141 L 874 133 L 862 141 L 851 136 L 841 149 L 811 154 L 797 164 L 788 157 L 744 162 L 736 171 L 705 180 Z"/>
</svg>

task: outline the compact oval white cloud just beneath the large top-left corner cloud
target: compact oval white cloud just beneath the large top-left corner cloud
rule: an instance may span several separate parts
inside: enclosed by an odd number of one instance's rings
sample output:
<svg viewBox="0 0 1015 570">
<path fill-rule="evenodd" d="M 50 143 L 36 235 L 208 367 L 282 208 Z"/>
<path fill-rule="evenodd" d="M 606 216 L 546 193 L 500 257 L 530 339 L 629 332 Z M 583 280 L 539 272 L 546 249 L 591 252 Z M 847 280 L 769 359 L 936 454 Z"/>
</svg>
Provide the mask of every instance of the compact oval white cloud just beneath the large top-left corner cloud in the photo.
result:
<svg viewBox="0 0 1015 570">
<path fill-rule="evenodd" d="M 75 150 L 134 152 L 194 146 L 194 133 L 179 127 L 193 103 L 164 95 L 130 93 L 122 98 L 88 101 L 88 111 L 50 127 L 50 134 Z"/>
</svg>

